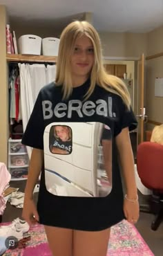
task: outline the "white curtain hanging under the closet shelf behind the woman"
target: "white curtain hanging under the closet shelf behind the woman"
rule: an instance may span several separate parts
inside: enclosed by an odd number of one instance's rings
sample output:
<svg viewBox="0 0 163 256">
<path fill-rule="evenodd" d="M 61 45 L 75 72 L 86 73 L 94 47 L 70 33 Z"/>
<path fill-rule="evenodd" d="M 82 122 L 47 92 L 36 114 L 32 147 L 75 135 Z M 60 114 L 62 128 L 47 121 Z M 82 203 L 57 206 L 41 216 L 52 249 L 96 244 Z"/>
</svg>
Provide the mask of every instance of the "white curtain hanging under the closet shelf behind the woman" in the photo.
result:
<svg viewBox="0 0 163 256">
<path fill-rule="evenodd" d="M 20 91 L 21 91 L 21 115 L 23 121 L 23 131 L 32 113 L 32 109 L 37 99 L 40 89 L 55 81 L 56 65 L 44 64 L 19 64 Z M 27 147 L 30 158 L 32 148 Z"/>
</svg>

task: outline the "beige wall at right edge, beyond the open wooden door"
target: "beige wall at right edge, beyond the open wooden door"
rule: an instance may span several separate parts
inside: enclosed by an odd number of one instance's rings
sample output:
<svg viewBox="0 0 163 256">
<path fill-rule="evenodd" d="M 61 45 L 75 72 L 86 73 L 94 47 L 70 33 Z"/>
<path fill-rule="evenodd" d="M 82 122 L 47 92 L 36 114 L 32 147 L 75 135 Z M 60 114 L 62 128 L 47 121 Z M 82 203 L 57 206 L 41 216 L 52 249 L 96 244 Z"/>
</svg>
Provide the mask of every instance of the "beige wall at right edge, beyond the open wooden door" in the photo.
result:
<svg viewBox="0 0 163 256">
<path fill-rule="evenodd" d="M 147 35 L 147 55 L 163 53 L 163 26 Z M 148 119 L 163 123 L 163 98 L 155 97 L 155 77 L 163 77 L 163 56 L 146 61 L 146 110 Z M 148 129 L 154 125 L 148 124 Z"/>
</svg>

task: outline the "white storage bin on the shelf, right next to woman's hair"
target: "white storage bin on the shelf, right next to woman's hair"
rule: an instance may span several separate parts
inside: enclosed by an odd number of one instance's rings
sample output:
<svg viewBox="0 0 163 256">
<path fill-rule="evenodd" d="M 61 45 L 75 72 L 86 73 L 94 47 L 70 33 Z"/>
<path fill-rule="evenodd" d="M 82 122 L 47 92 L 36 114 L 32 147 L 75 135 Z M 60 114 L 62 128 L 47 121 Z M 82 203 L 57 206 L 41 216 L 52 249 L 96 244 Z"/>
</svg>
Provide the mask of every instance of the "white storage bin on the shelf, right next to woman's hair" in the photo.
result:
<svg viewBox="0 0 163 256">
<path fill-rule="evenodd" d="M 46 37 L 42 39 L 42 52 L 46 56 L 58 56 L 59 38 Z"/>
</svg>

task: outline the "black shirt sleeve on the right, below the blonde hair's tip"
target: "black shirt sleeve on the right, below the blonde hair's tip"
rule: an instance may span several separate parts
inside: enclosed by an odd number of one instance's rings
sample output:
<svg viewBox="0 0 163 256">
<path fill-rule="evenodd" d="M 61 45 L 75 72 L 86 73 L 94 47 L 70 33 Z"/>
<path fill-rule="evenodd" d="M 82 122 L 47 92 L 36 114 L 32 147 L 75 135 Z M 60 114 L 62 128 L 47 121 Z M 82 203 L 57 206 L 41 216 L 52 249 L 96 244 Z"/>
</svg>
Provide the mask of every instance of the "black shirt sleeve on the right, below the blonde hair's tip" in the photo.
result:
<svg viewBox="0 0 163 256">
<path fill-rule="evenodd" d="M 115 121 L 114 136 L 117 136 L 122 131 L 122 129 L 126 127 L 128 127 L 129 131 L 136 129 L 137 120 L 135 118 L 135 114 L 133 113 L 133 109 L 131 107 L 128 109 L 122 99 L 119 101 L 117 108 L 118 114 Z"/>
</svg>

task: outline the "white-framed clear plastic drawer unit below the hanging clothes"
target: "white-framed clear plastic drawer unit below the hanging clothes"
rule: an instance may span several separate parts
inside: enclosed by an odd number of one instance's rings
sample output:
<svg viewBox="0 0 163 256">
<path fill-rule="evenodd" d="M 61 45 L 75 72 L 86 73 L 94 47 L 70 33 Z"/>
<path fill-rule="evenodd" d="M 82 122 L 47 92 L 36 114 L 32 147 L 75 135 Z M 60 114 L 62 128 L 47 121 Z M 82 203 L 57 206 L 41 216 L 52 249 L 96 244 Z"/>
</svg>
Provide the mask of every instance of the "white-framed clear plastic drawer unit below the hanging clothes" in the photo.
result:
<svg viewBox="0 0 163 256">
<path fill-rule="evenodd" d="M 8 170 L 11 174 L 11 181 L 27 179 L 28 175 L 28 152 L 21 140 L 8 140 Z"/>
</svg>

